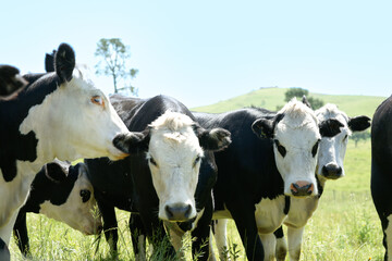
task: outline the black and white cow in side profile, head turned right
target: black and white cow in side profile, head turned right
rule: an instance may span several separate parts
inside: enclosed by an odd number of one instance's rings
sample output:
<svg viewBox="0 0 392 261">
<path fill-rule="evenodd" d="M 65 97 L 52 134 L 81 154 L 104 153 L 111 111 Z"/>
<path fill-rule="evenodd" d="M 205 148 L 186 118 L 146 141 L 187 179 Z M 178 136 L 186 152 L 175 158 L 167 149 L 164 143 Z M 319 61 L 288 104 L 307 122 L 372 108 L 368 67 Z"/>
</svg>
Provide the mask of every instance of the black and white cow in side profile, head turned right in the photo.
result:
<svg viewBox="0 0 392 261">
<path fill-rule="evenodd" d="M 102 91 L 74 70 L 69 45 L 60 45 L 54 60 L 54 73 L 25 75 L 29 85 L 17 97 L 0 100 L 0 237 L 5 244 L 45 163 L 123 159 L 127 154 L 118 144 L 143 138 L 131 134 Z"/>
</svg>

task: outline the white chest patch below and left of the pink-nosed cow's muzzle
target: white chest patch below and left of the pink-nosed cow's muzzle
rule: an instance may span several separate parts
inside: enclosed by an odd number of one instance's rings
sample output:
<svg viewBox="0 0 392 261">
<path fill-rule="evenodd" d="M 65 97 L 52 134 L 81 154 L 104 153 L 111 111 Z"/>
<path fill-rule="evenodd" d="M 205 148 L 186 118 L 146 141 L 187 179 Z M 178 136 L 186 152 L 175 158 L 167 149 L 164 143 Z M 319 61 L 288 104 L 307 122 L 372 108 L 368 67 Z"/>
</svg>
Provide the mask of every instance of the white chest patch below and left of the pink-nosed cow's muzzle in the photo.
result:
<svg viewBox="0 0 392 261">
<path fill-rule="evenodd" d="M 264 198 L 256 204 L 255 219 L 259 234 L 273 233 L 286 216 L 283 213 L 285 196 L 281 195 L 274 199 Z"/>
</svg>

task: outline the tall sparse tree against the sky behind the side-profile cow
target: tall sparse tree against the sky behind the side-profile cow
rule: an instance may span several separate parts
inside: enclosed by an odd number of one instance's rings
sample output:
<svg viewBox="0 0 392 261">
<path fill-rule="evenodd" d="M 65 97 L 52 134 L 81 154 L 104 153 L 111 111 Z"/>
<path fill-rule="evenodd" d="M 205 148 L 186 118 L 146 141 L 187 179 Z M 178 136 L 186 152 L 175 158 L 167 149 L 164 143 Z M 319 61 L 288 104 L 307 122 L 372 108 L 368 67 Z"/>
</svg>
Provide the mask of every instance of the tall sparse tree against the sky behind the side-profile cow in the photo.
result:
<svg viewBox="0 0 392 261">
<path fill-rule="evenodd" d="M 127 67 L 126 62 L 131 58 L 128 46 L 125 46 L 120 38 L 102 38 L 97 44 L 95 55 L 101 58 L 96 64 L 96 74 L 113 78 L 114 94 L 127 90 L 137 96 L 137 89 L 130 82 L 138 70 Z"/>
</svg>

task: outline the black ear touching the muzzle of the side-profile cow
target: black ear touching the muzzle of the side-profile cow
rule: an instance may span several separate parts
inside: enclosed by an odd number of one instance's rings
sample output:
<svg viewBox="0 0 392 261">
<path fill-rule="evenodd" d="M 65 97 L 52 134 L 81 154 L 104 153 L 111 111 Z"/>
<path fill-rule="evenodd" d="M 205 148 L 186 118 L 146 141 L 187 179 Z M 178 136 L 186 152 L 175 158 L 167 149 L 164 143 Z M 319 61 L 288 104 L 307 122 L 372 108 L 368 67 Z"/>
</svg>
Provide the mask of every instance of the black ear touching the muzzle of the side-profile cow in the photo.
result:
<svg viewBox="0 0 392 261">
<path fill-rule="evenodd" d="M 127 134 L 119 134 L 113 139 L 113 145 L 119 150 L 133 154 L 140 151 L 146 151 L 149 144 L 149 128 L 147 127 L 143 133 L 131 132 Z"/>
</svg>

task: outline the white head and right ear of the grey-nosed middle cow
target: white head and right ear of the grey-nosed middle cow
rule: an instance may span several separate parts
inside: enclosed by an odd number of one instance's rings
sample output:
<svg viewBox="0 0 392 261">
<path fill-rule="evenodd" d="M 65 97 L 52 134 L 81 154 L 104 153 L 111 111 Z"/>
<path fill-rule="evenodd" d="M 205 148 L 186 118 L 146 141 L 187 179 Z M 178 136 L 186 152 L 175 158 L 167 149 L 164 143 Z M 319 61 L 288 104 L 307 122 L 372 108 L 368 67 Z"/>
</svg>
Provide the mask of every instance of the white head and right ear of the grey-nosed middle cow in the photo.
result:
<svg viewBox="0 0 392 261">
<path fill-rule="evenodd" d="M 194 197 L 204 150 L 221 150 L 230 142 L 228 130 L 204 129 L 179 112 L 167 111 L 149 125 L 140 146 L 148 150 L 161 220 L 183 222 L 196 216 Z"/>
</svg>

